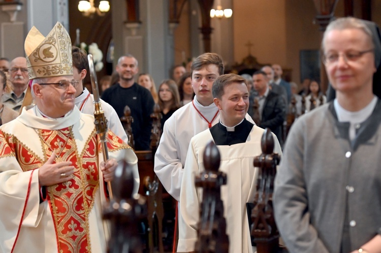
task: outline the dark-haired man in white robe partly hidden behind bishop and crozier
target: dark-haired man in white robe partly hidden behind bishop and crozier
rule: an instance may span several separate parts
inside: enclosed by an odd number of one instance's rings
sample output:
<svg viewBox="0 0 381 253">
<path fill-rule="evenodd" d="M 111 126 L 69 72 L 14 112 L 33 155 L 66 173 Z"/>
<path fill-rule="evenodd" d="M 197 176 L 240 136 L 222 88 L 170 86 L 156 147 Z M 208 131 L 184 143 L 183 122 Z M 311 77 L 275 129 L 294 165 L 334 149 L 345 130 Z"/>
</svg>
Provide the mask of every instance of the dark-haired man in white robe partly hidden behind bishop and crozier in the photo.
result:
<svg viewBox="0 0 381 253">
<path fill-rule="evenodd" d="M 94 96 L 83 87 L 83 80 L 87 75 L 88 61 L 87 54 L 79 47 L 72 47 L 73 55 L 73 77 L 75 81 L 78 81 L 75 87 L 75 105 L 79 111 L 84 114 L 94 115 Z M 129 143 L 129 139 L 124 131 L 122 123 L 120 122 L 118 115 L 114 108 L 101 99 L 101 107 L 105 113 L 107 119 L 107 127 L 119 136 L 125 143 Z"/>
</svg>

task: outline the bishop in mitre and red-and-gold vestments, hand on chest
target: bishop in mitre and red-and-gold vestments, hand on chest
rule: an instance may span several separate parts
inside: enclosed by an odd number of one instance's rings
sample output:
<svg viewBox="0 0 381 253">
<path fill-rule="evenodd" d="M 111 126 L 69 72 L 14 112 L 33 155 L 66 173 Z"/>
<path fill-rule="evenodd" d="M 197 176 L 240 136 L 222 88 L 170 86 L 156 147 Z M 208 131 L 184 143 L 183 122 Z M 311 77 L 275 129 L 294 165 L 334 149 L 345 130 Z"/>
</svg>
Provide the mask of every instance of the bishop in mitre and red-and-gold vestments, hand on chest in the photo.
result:
<svg viewBox="0 0 381 253">
<path fill-rule="evenodd" d="M 110 236 L 102 221 L 105 183 L 113 179 L 118 160 L 138 171 L 133 150 L 111 131 L 110 159 L 103 161 L 94 117 L 74 103 L 70 42 L 59 22 L 47 37 L 33 27 L 25 39 L 36 104 L 0 127 L 2 252 L 105 252 Z M 47 62 L 39 52 L 54 60 Z"/>
</svg>

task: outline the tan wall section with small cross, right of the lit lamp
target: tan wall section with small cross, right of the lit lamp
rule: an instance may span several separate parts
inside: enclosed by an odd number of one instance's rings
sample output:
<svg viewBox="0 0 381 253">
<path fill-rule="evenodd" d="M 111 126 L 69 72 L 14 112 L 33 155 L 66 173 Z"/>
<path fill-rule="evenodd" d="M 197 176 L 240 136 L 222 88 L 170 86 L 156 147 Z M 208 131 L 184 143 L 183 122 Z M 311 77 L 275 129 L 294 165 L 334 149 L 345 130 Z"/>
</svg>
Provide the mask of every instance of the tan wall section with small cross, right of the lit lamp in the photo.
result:
<svg viewBox="0 0 381 253">
<path fill-rule="evenodd" d="M 248 55 L 245 44 L 250 41 L 250 53 L 259 63 L 285 66 L 285 0 L 234 1 L 233 7 L 234 60 L 239 63 Z"/>
</svg>

